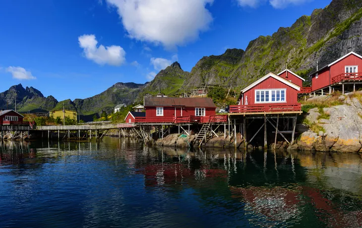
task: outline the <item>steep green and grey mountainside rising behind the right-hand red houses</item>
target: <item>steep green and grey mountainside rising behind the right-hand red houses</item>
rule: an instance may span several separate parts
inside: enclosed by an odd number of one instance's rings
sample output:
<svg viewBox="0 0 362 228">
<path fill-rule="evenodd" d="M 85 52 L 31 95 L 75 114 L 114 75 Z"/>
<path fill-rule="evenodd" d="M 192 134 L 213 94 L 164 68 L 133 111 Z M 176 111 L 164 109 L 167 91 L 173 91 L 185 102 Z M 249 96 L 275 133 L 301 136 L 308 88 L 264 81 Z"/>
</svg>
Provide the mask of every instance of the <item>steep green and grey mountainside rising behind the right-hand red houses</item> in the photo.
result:
<svg viewBox="0 0 362 228">
<path fill-rule="evenodd" d="M 199 83 L 237 84 L 241 88 L 269 72 L 282 71 L 286 63 L 306 77 L 315 70 L 317 61 L 321 67 L 351 51 L 362 54 L 361 7 L 361 0 L 333 0 L 291 27 L 251 41 L 245 52 L 228 50 L 221 56 L 203 57 L 183 88 Z M 230 58 L 225 59 L 227 56 Z"/>
</svg>

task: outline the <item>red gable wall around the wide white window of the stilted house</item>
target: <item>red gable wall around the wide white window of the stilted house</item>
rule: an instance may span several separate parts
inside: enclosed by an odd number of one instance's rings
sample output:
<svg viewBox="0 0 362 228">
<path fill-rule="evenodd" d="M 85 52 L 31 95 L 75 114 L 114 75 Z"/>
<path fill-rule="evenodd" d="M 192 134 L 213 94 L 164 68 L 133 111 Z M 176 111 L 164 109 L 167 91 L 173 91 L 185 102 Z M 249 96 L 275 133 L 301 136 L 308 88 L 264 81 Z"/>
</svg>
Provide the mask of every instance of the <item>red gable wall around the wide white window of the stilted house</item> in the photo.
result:
<svg viewBox="0 0 362 228">
<path fill-rule="evenodd" d="M 298 90 L 284 84 L 281 81 L 273 77 L 269 77 L 262 81 L 260 84 L 254 86 L 244 93 L 244 104 L 245 96 L 247 96 L 248 105 L 255 105 L 255 90 L 256 89 L 287 89 L 286 91 L 286 102 L 282 103 L 265 103 L 265 104 L 295 104 L 298 103 Z M 263 103 L 257 103 L 256 105 Z"/>
</svg>

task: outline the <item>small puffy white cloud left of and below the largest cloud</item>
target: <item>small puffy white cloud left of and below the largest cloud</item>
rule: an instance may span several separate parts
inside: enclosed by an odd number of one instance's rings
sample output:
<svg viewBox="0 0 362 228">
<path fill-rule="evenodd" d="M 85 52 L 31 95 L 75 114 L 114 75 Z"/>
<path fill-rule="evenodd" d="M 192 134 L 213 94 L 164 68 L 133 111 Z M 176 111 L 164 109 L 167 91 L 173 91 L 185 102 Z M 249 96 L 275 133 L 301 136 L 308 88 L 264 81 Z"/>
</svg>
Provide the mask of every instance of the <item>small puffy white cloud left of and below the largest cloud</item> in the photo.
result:
<svg viewBox="0 0 362 228">
<path fill-rule="evenodd" d="M 125 61 L 125 51 L 120 46 L 99 45 L 95 35 L 82 35 L 78 37 L 79 46 L 83 49 L 86 58 L 94 62 L 104 65 L 119 66 Z"/>
</svg>

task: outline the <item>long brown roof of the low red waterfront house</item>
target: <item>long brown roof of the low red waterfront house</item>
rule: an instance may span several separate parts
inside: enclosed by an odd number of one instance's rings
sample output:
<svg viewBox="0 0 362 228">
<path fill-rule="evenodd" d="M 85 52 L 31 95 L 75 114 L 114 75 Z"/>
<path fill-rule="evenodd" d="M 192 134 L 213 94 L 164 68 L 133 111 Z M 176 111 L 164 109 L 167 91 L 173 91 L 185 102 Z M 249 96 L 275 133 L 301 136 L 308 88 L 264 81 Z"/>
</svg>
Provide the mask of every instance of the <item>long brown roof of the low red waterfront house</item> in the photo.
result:
<svg viewBox="0 0 362 228">
<path fill-rule="evenodd" d="M 145 97 L 145 107 L 197 107 L 197 108 L 216 108 L 211 98 L 181 98 L 181 97 Z"/>
</svg>

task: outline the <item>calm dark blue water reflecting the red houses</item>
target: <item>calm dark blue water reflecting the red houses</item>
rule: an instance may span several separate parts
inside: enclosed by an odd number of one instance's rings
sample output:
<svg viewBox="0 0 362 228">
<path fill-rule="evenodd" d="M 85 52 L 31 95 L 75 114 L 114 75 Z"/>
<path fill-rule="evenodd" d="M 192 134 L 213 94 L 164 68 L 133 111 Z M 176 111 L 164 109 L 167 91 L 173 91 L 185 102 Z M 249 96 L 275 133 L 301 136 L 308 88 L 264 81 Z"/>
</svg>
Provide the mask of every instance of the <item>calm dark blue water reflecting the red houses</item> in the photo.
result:
<svg viewBox="0 0 362 228">
<path fill-rule="evenodd" d="M 358 154 L 0 146 L 0 227 L 362 227 Z"/>
</svg>

